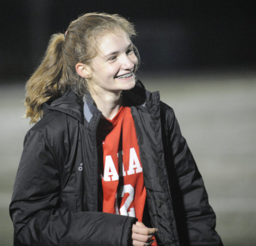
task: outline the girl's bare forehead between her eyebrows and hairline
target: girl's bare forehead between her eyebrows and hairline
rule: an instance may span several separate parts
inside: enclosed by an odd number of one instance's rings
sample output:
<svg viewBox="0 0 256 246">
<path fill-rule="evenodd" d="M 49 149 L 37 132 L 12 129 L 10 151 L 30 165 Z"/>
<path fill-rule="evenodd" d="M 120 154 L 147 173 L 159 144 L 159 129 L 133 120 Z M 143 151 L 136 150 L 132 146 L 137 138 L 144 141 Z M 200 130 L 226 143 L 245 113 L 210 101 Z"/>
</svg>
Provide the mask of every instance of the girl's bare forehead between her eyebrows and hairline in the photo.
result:
<svg viewBox="0 0 256 246">
<path fill-rule="evenodd" d="M 106 31 L 95 39 L 98 55 L 120 52 L 131 44 L 129 35 L 122 29 Z"/>
</svg>

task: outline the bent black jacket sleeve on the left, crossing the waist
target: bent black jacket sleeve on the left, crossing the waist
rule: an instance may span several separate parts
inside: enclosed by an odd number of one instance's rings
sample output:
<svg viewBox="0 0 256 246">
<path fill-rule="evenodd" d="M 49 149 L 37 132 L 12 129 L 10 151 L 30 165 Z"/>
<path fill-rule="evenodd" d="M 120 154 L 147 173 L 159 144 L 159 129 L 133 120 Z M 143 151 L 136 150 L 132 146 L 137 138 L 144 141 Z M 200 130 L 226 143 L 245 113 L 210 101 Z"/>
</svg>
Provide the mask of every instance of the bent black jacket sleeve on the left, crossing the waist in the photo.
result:
<svg viewBox="0 0 256 246">
<path fill-rule="evenodd" d="M 136 218 L 60 207 L 59 167 L 40 131 L 24 141 L 10 215 L 25 245 L 130 245 Z"/>
</svg>

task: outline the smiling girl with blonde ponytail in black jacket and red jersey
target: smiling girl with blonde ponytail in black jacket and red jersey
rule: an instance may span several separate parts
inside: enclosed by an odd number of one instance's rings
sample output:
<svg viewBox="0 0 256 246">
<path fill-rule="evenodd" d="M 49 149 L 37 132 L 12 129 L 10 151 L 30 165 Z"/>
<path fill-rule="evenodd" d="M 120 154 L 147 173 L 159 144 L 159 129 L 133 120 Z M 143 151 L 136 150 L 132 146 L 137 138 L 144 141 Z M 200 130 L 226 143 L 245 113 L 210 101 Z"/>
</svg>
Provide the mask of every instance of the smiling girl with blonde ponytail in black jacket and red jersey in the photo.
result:
<svg viewBox="0 0 256 246">
<path fill-rule="evenodd" d="M 221 245 L 173 110 L 135 79 L 134 27 L 90 13 L 26 85 L 10 214 L 16 245 Z"/>
</svg>

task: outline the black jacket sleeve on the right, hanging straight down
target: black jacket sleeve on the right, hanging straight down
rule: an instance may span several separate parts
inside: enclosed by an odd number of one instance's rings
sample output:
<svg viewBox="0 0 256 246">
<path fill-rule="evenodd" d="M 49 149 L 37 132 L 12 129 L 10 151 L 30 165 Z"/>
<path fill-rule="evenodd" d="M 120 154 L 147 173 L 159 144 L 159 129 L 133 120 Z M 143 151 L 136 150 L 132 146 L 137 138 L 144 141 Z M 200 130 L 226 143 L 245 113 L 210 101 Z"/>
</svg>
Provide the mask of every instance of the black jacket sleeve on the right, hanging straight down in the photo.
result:
<svg viewBox="0 0 256 246">
<path fill-rule="evenodd" d="M 163 135 L 167 136 L 167 143 L 164 144 L 165 158 L 169 166 L 167 170 L 177 214 L 176 223 L 180 227 L 178 231 L 182 232 L 179 235 L 183 241 L 181 245 L 222 245 L 215 231 L 216 217 L 209 205 L 203 179 L 181 135 L 173 109 L 164 103 L 161 108 L 161 117 L 165 122 Z"/>
</svg>

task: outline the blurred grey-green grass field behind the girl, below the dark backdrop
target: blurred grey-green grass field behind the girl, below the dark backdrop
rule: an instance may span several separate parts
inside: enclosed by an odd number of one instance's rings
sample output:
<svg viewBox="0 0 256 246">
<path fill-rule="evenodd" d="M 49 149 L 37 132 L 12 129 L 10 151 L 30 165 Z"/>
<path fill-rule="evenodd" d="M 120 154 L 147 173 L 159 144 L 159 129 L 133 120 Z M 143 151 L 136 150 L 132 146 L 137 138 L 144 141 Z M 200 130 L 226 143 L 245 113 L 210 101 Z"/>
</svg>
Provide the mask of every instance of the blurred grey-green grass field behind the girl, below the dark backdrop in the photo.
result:
<svg viewBox="0 0 256 246">
<path fill-rule="evenodd" d="M 197 162 L 225 246 L 256 245 L 256 73 L 139 74 L 174 108 Z M 30 128 L 24 82 L 0 84 L 0 245 L 12 245 L 8 206 Z"/>
</svg>

